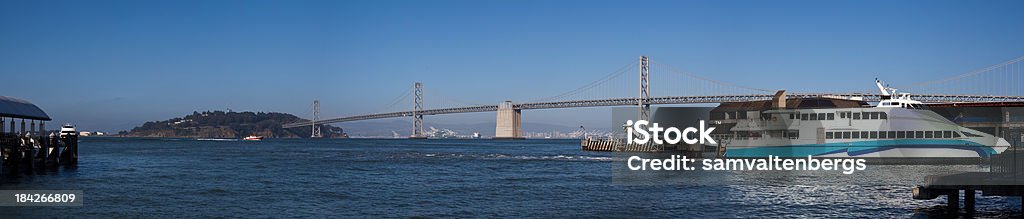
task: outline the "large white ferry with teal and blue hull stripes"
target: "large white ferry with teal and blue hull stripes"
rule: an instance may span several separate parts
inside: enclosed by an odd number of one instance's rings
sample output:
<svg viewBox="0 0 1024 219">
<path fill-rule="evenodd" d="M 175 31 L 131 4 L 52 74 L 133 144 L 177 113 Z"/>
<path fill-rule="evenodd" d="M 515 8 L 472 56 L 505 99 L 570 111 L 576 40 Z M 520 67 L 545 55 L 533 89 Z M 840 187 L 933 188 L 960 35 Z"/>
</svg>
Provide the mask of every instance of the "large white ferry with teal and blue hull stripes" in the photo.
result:
<svg viewBox="0 0 1024 219">
<path fill-rule="evenodd" d="M 954 124 L 908 93 L 876 84 L 884 97 L 874 106 L 785 107 L 783 99 L 781 107 L 738 107 L 724 120 L 713 118 L 731 126 L 723 127 L 728 133 L 719 143 L 730 158 L 989 158 L 1010 147 L 1006 139 Z"/>
</svg>

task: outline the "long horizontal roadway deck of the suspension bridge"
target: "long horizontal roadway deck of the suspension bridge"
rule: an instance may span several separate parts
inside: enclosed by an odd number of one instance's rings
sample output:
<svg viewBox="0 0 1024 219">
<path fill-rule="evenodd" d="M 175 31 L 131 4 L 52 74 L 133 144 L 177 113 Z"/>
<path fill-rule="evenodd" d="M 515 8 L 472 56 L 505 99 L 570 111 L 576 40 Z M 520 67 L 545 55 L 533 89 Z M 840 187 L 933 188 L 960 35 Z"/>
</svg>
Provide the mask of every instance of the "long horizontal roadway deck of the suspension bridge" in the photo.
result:
<svg viewBox="0 0 1024 219">
<path fill-rule="evenodd" d="M 860 97 L 866 101 L 878 101 L 882 98 L 880 94 L 786 94 L 786 98 L 810 98 L 810 97 Z M 910 94 L 910 97 L 923 102 L 986 102 L 986 101 L 1024 101 L 1024 96 L 991 96 L 991 95 L 943 95 L 943 94 Z M 662 96 L 651 97 L 650 104 L 686 104 L 686 103 L 719 103 L 719 102 L 741 102 L 755 100 L 769 100 L 772 94 L 749 94 L 749 95 L 714 95 L 714 96 Z M 636 97 L 608 98 L 591 100 L 566 100 L 548 102 L 526 102 L 514 104 L 516 110 L 541 110 L 541 108 L 566 108 L 566 107 L 592 107 L 592 106 L 612 106 L 612 105 L 636 105 Z M 495 112 L 498 105 L 475 105 L 463 107 L 424 110 L 420 115 L 444 115 L 464 114 L 479 112 Z M 413 111 L 394 112 L 383 114 L 371 114 L 353 117 L 343 117 L 316 121 L 316 124 L 343 123 L 360 120 L 376 120 L 385 118 L 412 117 Z M 296 128 L 311 126 L 311 121 L 285 124 L 284 128 Z"/>
</svg>

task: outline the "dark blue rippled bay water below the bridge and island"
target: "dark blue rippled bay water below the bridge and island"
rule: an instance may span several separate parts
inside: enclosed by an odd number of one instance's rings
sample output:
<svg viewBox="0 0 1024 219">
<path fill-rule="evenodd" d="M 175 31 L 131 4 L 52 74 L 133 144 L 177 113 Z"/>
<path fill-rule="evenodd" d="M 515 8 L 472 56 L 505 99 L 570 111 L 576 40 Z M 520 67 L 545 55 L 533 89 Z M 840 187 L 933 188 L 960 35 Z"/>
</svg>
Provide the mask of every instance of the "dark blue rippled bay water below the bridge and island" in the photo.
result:
<svg viewBox="0 0 1024 219">
<path fill-rule="evenodd" d="M 577 140 L 83 138 L 77 168 L 8 175 L 0 189 L 81 189 L 84 207 L 14 217 L 912 217 L 915 181 L 872 185 L 617 185 L 608 152 Z M 886 168 L 884 166 L 878 168 Z M 978 200 L 1015 217 L 1020 199 Z M 6 217 L 4 217 L 6 218 Z"/>
</svg>

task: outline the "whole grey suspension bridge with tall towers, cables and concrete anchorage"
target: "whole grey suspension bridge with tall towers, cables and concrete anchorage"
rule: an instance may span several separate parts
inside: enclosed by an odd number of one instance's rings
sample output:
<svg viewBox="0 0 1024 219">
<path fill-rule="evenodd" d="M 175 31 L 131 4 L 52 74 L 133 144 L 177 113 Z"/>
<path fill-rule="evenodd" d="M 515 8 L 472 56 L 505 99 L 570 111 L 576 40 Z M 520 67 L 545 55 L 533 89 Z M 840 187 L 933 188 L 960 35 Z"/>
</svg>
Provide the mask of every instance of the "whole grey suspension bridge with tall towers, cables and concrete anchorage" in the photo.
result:
<svg viewBox="0 0 1024 219">
<path fill-rule="evenodd" d="M 994 65 L 982 68 L 962 75 L 927 81 L 903 87 L 903 91 L 911 91 L 910 97 L 929 103 L 959 103 L 959 102 L 1019 102 L 1024 101 L 1024 75 L 1020 65 L 1024 56 L 1011 59 Z M 650 65 L 665 70 L 668 74 L 659 74 L 658 80 L 650 80 Z M 634 69 L 636 68 L 636 69 Z M 637 70 L 639 80 L 624 77 L 630 70 Z M 673 93 L 686 95 L 651 96 L 651 82 L 655 82 L 657 93 Z M 423 117 L 446 114 L 465 114 L 480 112 L 497 112 L 496 138 L 522 138 L 522 111 L 543 108 L 571 108 L 615 105 L 636 105 L 640 108 L 638 119 L 648 120 L 651 104 L 690 104 L 690 103 L 721 103 L 769 100 L 776 94 L 785 98 L 844 98 L 864 101 L 879 101 L 884 98 L 874 90 L 855 92 L 792 92 L 782 90 L 759 89 L 732 83 L 712 80 L 706 77 L 686 73 L 671 65 L 650 61 L 647 56 L 640 56 L 639 61 L 633 61 L 623 68 L 577 89 L 525 102 L 502 101 L 498 104 L 470 104 L 444 95 L 436 95 L 438 103 L 433 107 L 425 106 L 423 84 L 416 82 L 414 86 L 402 92 L 387 107 L 392 107 L 413 97 L 411 111 L 394 111 L 389 113 L 371 113 L 358 116 L 319 119 L 319 101 L 313 105 L 313 119 L 284 125 L 284 128 L 311 127 L 312 137 L 319 137 L 317 125 L 344 123 L 362 120 L 386 118 L 413 118 L 413 134 L 411 138 L 425 138 Z"/>
</svg>

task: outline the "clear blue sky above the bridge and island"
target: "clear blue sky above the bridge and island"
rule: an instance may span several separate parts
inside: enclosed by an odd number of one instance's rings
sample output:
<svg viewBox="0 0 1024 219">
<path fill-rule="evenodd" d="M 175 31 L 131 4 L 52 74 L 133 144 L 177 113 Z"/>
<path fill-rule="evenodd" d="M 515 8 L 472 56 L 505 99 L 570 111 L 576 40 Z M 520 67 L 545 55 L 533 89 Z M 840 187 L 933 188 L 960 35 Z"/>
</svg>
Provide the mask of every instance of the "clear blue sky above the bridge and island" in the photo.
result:
<svg viewBox="0 0 1024 219">
<path fill-rule="evenodd" d="M 864 90 L 879 75 L 908 84 L 1024 55 L 1022 9 L 1024 1 L 6 0 L 0 95 L 27 98 L 58 123 L 117 131 L 193 111 L 308 116 L 314 98 L 325 117 L 365 113 L 414 81 L 463 101 L 529 100 L 641 54 L 753 87 Z M 610 115 L 583 112 L 525 120 L 604 125 Z"/>
</svg>

